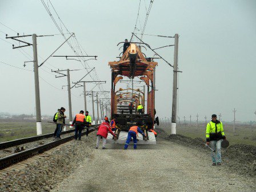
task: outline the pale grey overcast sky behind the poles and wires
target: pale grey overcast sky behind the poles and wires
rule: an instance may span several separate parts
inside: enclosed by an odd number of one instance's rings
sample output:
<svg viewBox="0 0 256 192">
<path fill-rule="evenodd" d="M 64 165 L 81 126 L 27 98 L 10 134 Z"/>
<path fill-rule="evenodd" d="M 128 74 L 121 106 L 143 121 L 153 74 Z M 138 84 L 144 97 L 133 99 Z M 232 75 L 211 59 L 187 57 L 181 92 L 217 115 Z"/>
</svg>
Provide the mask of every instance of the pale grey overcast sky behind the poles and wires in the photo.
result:
<svg viewBox="0 0 256 192">
<path fill-rule="evenodd" d="M 146 5 L 145 5 L 146 2 Z M 137 28 L 145 22 L 149 0 L 141 1 Z M 64 26 L 55 15 L 54 18 L 63 33 Z M 95 67 L 99 79 L 107 81 L 103 89 L 110 90 L 111 73 L 109 61 L 117 60 L 121 50 L 117 43 L 125 38 L 130 39 L 134 30 L 139 1 L 51 1 L 59 17 L 69 29 L 75 33 L 80 45 L 89 55 L 98 55 L 98 60 L 88 61 Z M 37 1 L 0 1 L 0 62 L 17 66 L 17 69 L 0 63 L 0 112 L 34 113 L 34 74 L 32 47 L 12 49 L 13 41 L 5 39 L 19 34 L 49 35 L 60 34 L 47 13 L 42 2 Z M 221 113 L 222 119 L 233 119 L 234 107 L 237 110 L 237 121 L 255 121 L 255 82 L 256 82 L 256 1 L 170 1 L 155 0 L 147 21 L 145 34 L 173 36 L 179 34 L 178 66 L 183 73 L 179 74 L 178 115 L 183 119 L 204 120 L 205 115 Z M 2 25 L 3 24 L 3 25 Z M 6 26 L 4 26 L 6 25 Z M 9 28 L 10 29 L 9 29 Z M 68 37 L 68 34 L 66 34 Z M 32 42 L 31 37 L 23 40 Z M 7 41 L 7 42 L 6 42 Z M 41 63 L 61 43 L 61 35 L 54 37 L 38 37 L 38 61 Z M 173 38 L 143 36 L 143 41 L 151 47 L 174 44 Z M 74 43 L 74 38 L 70 43 Z M 74 44 L 75 45 L 75 44 Z M 15 44 L 15 46 L 17 46 Z M 159 49 L 158 53 L 173 63 L 174 47 Z M 145 51 L 148 57 L 153 53 Z M 65 44 L 55 55 L 74 55 L 69 45 Z M 88 67 L 88 66 L 87 66 Z M 84 69 L 75 60 L 51 57 L 39 68 L 40 96 L 42 114 L 54 114 L 61 107 L 66 107 L 68 114 L 66 77 L 55 78 L 51 69 Z M 87 69 L 90 70 L 90 69 Z M 71 81 L 78 81 L 86 70 L 71 72 Z M 95 77 L 95 73 L 92 73 Z M 91 81 L 87 75 L 86 81 Z M 50 85 L 48 84 L 50 83 Z M 171 117 L 173 69 L 165 62 L 158 60 L 156 70 L 155 97 L 157 115 Z M 123 84 L 126 87 L 125 84 Z M 141 86 L 141 85 L 139 85 Z M 87 90 L 94 85 L 87 85 Z M 98 88 L 94 89 L 99 90 Z M 81 88 L 72 90 L 73 114 L 83 109 Z M 87 99 L 89 102 L 91 98 Z M 91 111 L 91 102 L 87 103 Z"/>
</svg>

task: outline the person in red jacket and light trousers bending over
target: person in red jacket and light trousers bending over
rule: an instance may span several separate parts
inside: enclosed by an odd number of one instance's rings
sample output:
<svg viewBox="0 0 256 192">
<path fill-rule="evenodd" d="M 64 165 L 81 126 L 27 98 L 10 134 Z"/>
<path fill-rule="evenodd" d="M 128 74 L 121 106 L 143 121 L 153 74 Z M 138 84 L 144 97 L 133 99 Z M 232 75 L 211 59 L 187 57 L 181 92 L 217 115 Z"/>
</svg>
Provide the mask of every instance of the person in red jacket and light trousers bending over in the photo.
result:
<svg viewBox="0 0 256 192">
<path fill-rule="evenodd" d="M 99 127 L 98 127 L 97 142 L 96 142 L 95 149 L 98 149 L 99 141 L 101 140 L 101 137 L 102 137 L 102 141 L 103 141 L 102 149 L 106 149 L 105 145 L 106 145 L 106 142 L 107 142 L 107 134 L 108 133 L 111 133 L 114 137 L 116 137 L 116 135 L 110 129 L 109 123 L 107 123 L 107 122 L 101 123 L 101 125 L 99 125 Z"/>
</svg>

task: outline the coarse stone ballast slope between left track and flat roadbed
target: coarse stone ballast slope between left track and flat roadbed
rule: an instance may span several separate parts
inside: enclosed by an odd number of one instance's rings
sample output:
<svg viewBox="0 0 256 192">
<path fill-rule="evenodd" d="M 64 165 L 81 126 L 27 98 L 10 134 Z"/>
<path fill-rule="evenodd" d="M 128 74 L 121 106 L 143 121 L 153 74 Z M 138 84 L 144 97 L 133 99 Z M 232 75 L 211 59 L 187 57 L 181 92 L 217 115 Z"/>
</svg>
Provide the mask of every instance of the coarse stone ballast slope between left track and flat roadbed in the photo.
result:
<svg viewBox="0 0 256 192">
<path fill-rule="evenodd" d="M 92 135 L 93 134 L 93 135 Z M 82 141 L 56 147 L 49 157 L 38 159 L 16 173 L 1 178 L 0 191 L 50 191 L 72 173 L 93 151 L 95 132 Z"/>
</svg>

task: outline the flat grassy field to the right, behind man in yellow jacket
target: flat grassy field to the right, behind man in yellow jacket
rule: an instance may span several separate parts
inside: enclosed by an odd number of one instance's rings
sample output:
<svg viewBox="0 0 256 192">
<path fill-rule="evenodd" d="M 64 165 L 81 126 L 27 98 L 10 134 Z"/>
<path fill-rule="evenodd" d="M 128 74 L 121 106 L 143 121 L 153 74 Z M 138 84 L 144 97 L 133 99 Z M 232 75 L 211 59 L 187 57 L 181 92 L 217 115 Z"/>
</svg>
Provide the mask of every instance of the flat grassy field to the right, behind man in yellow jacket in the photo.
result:
<svg viewBox="0 0 256 192">
<path fill-rule="evenodd" d="M 171 133 L 171 123 L 162 123 L 162 125 L 159 125 L 159 128 L 162 128 L 168 134 Z M 256 126 L 236 125 L 234 132 L 233 125 L 223 122 L 223 129 L 230 145 L 243 143 L 256 146 Z M 198 129 L 195 124 L 185 126 L 177 123 L 177 134 L 185 135 L 186 137 L 206 139 L 205 131 L 205 123 L 198 125 Z"/>
</svg>

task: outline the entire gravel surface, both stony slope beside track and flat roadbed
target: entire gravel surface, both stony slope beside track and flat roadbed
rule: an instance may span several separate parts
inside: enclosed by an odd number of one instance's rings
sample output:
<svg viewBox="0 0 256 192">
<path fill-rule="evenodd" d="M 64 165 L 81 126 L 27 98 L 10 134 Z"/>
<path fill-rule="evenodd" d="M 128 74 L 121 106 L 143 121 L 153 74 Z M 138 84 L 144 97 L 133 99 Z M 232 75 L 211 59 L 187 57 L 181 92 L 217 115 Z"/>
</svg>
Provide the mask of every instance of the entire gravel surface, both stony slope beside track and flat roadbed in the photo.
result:
<svg viewBox="0 0 256 192">
<path fill-rule="evenodd" d="M 210 151 L 199 139 L 169 138 L 158 130 L 157 145 L 137 150 L 110 144 L 95 149 L 95 142 L 93 132 L 65 143 L 50 157 L 7 175 L 0 191 L 256 191 L 255 177 L 230 171 L 227 162 L 211 166 Z"/>
</svg>

